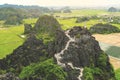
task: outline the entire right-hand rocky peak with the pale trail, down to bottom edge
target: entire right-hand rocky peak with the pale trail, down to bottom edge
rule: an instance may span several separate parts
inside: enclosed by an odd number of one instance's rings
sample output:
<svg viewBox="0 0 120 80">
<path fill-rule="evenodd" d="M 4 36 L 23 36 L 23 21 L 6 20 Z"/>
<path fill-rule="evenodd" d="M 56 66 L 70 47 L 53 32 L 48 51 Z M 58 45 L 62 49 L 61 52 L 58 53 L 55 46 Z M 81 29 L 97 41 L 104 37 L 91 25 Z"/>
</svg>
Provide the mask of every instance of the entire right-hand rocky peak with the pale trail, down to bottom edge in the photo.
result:
<svg viewBox="0 0 120 80">
<path fill-rule="evenodd" d="M 83 77 L 85 67 L 99 68 L 103 73 L 107 74 L 107 76 L 105 76 L 106 74 L 93 76 L 93 80 L 109 80 L 111 78 L 115 80 L 114 72 L 110 72 L 113 69 L 107 56 L 104 56 L 106 57 L 104 69 L 101 68 L 98 59 L 102 58 L 100 55 L 106 54 L 103 53 L 98 42 L 91 36 L 87 29 L 74 27 L 71 30 L 65 31 L 65 34 L 68 37 L 68 41 L 65 47 L 56 53 L 54 57 L 56 63 L 68 73 L 67 80 L 86 80 Z"/>
</svg>

